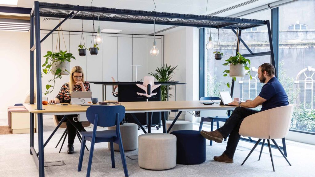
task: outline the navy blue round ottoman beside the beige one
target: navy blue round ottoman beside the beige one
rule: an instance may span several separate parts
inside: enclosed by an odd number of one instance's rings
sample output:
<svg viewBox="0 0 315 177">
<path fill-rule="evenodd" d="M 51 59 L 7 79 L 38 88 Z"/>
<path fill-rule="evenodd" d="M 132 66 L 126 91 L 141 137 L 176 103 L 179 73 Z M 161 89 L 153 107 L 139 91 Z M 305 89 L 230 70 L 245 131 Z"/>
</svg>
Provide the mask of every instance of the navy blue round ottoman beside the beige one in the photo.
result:
<svg viewBox="0 0 315 177">
<path fill-rule="evenodd" d="M 206 161 L 206 139 L 196 130 L 171 132 L 176 136 L 176 163 L 197 164 Z"/>
</svg>

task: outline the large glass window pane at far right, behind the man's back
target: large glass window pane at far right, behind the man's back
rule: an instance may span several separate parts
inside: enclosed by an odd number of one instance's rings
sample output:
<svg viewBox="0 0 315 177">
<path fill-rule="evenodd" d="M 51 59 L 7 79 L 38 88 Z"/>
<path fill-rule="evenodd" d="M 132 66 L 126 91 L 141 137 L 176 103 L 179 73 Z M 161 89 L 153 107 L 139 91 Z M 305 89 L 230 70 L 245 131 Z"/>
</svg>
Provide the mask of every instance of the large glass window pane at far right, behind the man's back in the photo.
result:
<svg viewBox="0 0 315 177">
<path fill-rule="evenodd" d="M 313 0 L 279 7 L 279 79 L 290 104 L 295 104 L 291 128 L 312 132 L 315 132 L 314 9 Z"/>
</svg>

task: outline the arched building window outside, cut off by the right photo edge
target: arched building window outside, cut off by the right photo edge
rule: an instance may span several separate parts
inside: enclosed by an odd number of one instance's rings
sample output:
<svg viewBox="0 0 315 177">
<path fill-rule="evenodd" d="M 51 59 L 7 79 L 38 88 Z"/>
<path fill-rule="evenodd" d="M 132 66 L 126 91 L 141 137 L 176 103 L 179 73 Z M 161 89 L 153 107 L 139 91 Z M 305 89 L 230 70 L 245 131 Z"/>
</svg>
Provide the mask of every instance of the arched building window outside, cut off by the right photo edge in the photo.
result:
<svg viewBox="0 0 315 177">
<path fill-rule="evenodd" d="M 315 109 L 315 69 L 311 66 L 301 70 L 296 76 L 295 83 L 298 84 L 300 93 L 298 103 L 304 105 L 305 109 Z"/>
</svg>

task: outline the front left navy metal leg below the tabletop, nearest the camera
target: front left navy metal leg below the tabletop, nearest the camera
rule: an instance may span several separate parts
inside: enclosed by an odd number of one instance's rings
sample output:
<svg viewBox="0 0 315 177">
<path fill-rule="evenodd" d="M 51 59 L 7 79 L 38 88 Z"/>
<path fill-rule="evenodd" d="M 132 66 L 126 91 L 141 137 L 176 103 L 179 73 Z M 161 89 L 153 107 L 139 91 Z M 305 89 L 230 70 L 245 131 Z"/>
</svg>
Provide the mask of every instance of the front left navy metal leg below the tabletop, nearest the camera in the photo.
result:
<svg viewBox="0 0 315 177">
<path fill-rule="evenodd" d="M 43 139 L 43 114 L 37 114 L 38 120 L 38 168 L 39 168 L 39 176 L 45 176 L 44 169 L 44 139 Z"/>
</svg>

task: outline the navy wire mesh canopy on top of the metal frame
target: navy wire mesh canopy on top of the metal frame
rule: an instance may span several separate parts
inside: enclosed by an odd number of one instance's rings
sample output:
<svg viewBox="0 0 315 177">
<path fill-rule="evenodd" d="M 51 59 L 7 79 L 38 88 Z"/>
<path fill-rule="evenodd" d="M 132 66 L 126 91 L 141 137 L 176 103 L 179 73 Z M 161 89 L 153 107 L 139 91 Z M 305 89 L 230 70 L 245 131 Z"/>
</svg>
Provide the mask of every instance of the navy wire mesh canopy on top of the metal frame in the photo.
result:
<svg viewBox="0 0 315 177">
<path fill-rule="evenodd" d="M 265 20 L 240 19 L 231 17 L 217 17 L 208 15 L 178 14 L 169 12 L 151 12 L 144 10 L 114 9 L 93 6 L 74 6 L 69 4 L 39 3 L 41 16 L 65 18 L 71 12 L 71 19 L 93 20 L 98 15 L 101 21 L 145 23 L 173 26 L 194 26 L 214 28 L 247 29 L 266 25 Z"/>
</svg>

